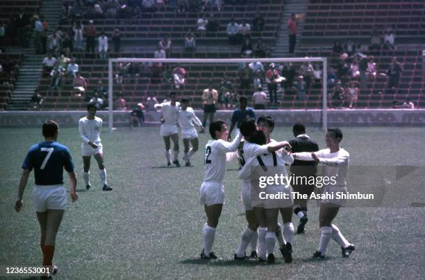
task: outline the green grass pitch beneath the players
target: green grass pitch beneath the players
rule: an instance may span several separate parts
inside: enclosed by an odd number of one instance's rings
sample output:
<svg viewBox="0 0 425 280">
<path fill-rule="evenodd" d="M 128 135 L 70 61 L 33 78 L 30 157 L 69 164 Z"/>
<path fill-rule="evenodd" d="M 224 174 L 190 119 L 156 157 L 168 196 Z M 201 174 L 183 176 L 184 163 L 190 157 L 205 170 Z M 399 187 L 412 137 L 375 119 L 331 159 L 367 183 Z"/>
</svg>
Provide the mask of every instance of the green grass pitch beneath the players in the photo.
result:
<svg viewBox="0 0 425 280">
<path fill-rule="evenodd" d="M 351 154 L 351 166 L 424 166 L 423 128 L 342 131 L 342 146 Z M 324 148 L 323 132 L 312 128 L 308 134 Z M 274 139 L 290 137 L 290 128 L 276 128 L 274 132 Z M 54 261 L 60 272 L 56 279 L 425 278 L 425 210 L 403 203 L 401 207 L 341 209 L 335 224 L 356 245 L 349 259 L 342 259 L 340 247 L 332 240 L 326 260 L 311 259 L 320 233 L 317 204 L 310 202 L 307 233 L 294 236 L 293 263 L 285 264 L 281 258 L 275 265 L 233 261 L 246 226 L 235 161 L 228 164 L 226 204 L 213 247 L 222 260 L 201 261 L 201 231 L 206 217 L 199 205 L 199 186 L 208 134 L 201 134 L 201 150 L 192 159 L 194 167 L 181 168 L 165 168 L 163 140 L 157 127 L 119 128 L 113 133 L 105 130 L 101 138 L 108 184 L 114 187 L 107 193 L 101 191 L 94 160 L 92 189 L 85 191 L 78 131 L 60 130 L 58 141 L 71 150 L 78 173 L 79 198 L 74 204 L 68 201 L 57 236 Z M 22 212 L 16 213 L 13 204 L 22 161 L 28 148 L 42 141 L 41 129 L 1 129 L 0 141 L 0 265 L 40 265 L 40 233 L 32 205 L 33 173 L 24 193 Z M 416 181 L 419 186 L 415 186 L 415 192 L 409 184 L 403 184 L 401 191 L 423 203 L 423 181 Z M 297 222 L 294 219 L 295 227 Z"/>
</svg>

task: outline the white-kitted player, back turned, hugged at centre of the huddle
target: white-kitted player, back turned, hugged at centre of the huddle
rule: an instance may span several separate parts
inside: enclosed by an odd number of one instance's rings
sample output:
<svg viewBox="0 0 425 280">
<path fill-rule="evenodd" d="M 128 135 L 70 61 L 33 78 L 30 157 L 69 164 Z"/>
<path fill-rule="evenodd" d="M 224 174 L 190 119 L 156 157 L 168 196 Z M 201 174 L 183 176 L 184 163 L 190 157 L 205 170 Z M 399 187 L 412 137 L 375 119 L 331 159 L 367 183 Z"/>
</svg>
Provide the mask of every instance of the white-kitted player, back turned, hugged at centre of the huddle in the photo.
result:
<svg viewBox="0 0 425 280">
<path fill-rule="evenodd" d="M 264 126 L 261 128 L 265 129 Z M 263 145 L 267 143 L 267 141 L 270 141 L 269 134 L 266 137 L 266 134 L 263 131 L 256 131 L 251 136 L 251 141 L 258 145 Z M 250 157 L 242 170 L 240 170 L 238 177 L 247 180 L 251 178 L 251 173 L 255 173 L 256 178 L 258 178 L 258 176 L 267 175 L 274 177 L 276 174 L 282 174 L 283 177 L 287 177 L 288 173 L 285 169 L 285 164 L 292 164 L 293 161 L 294 159 L 290 153 L 283 149 L 266 155 Z M 261 168 L 256 166 L 261 166 Z M 255 178 L 251 179 L 255 180 Z M 258 181 L 253 182 L 253 184 L 256 183 L 258 183 Z M 283 249 L 281 248 L 281 251 L 283 251 L 282 254 L 285 258 L 285 263 L 292 262 L 292 236 L 294 234 L 294 226 L 291 222 L 293 204 L 291 191 L 292 189 L 289 184 L 267 184 L 264 189 L 260 189 L 259 185 L 251 185 L 251 205 L 256 211 L 256 216 L 261 217 L 260 222 L 264 223 L 261 220 L 265 220 L 267 225 L 267 234 L 265 238 L 266 246 L 263 246 L 263 248 L 260 246 L 260 261 L 265 261 L 265 247 L 267 247 L 267 252 L 269 253 L 267 256 L 267 262 L 274 263 L 275 261 L 274 244 L 276 242 L 278 213 L 280 211 L 283 217 L 283 235 L 286 240 L 285 247 L 283 247 Z M 263 192 L 263 195 L 260 195 L 260 192 Z M 265 198 L 264 193 L 267 195 L 285 193 L 288 198 L 267 199 Z"/>
</svg>

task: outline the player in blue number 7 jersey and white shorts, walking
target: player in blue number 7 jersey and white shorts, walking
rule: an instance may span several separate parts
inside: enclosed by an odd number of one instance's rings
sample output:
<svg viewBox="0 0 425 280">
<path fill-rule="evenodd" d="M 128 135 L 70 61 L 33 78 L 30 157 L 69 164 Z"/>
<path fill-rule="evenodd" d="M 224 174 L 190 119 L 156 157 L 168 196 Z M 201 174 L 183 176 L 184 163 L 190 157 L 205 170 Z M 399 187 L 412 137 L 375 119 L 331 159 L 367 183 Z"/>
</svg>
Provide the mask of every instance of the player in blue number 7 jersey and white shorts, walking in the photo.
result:
<svg viewBox="0 0 425 280">
<path fill-rule="evenodd" d="M 22 164 L 22 177 L 19 182 L 15 210 L 22 209 L 22 196 L 31 170 L 34 169 L 35 187 L 33 204 L 40 223 L 40 246 L 43 253 L 42 265 L 51 267 L 50 272 L 58 271 L 53 265 L 56 234 L 67 204 L 67 191 L 63 187 L 63 168 L 69 175 L 69 195 L 72 202 L 78 199 L 76 194 L 76 175 L 71 154 L 66 146 L 56 142 L 59 126 L 55 121 L 46 121 L 42 128 L 44 141 L 33 145 Z M 42 278 L 49 279 L 50 273 Z"/>
</svg>

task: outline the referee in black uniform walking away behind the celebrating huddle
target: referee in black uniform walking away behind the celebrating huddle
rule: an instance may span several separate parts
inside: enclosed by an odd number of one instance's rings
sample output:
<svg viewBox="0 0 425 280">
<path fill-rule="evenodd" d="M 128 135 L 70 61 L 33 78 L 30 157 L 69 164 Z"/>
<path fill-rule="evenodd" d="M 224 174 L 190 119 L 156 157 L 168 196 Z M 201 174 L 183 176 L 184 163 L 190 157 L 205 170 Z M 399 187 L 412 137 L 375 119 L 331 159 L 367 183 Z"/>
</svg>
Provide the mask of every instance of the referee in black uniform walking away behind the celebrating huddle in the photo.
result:
<svg viewBox="0 0 425 280">
<path fill-rule="evenodd" d="M 308 137 L 306 134 L 306 127 L 302 123 L 296 123 L 292 128 L 292 132 L 294 132 L 295 137 L 289 141 L 292 146 L 292 152 L 317 152 L 319 150 L 317 142 Z M 315 176 L 317 173 L 317 163 L 315 161 L 294 159 L 294 163 L 292 164 L 290 171 L 294 176 Z M 303 184 L 301 180 L 298 181 L 299 182 L 297 182 L 297 180 L 292 181 L 292 189 L 294 192 L 307 194 L 308 197 L 310 197 L 311 193 L 315 189 L 315 185 Z M 294 199 L 294 213 L 299 218 L 297 234 L 303 234 L 305 232 L 304 227 L 308 222 L 307 202 L 308 200 Z"/>
</svg>

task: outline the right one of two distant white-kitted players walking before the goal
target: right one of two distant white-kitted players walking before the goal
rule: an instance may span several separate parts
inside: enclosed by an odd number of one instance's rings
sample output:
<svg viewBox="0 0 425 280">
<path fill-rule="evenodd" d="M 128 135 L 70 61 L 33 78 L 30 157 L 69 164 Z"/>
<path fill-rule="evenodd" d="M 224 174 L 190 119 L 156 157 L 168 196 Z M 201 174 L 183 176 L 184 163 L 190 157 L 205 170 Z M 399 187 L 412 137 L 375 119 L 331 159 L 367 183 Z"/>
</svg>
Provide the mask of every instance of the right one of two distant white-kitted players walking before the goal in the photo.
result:
<svg viewBox="0 0 425 280">
<path fill-rule="evenodd" d="M 185 155 L 183 160 L 186 162 L 185 166 L 190 166 L 190 157 L 198 150 L 198 132 L 194 125 L 198 125 L 201 130 L 204 130 L 201 121 L 194 113 L 192 107 L 189 106 L 189 99 L 181 99 L 181 111 L 178 112 L 178 124 L 181 127 L 181 137 L 183 138 L 183 146 L 185 146 Z M 192 144 L 192 148 L 190 148 Z"/>
</svg>

